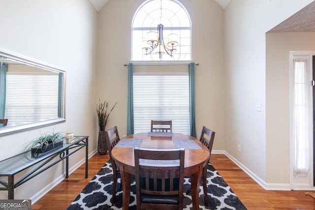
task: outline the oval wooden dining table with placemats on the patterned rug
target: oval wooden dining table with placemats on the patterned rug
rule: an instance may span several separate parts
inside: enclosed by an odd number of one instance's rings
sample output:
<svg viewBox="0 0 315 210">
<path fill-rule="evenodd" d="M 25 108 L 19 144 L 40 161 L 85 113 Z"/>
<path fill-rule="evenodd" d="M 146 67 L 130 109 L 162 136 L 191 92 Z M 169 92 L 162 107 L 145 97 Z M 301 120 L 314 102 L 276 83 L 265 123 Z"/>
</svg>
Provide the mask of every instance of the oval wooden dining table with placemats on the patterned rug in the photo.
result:
<svg viewBox="0 0 315 210">
<path fill-rule="evenodd" d="M 180 133 L 173 133 L 173 136 L 148 136 L 149 133 L 137 133 L 124 137 L 113 149 L 112 157 L 115 159 L 116 164 L 119 165 L 121 173 L 121 181 L 123 187 L 123 210 L 128 210 L 130 201 L 130 182 L 131 175 L 135 174 L 134 169 L 134 145 L 131 146 L 121 146 L 120 143 L 124 139 L 126 141 L 134 141 L 138 139 L 138 142 L 142 139 L 140 143 L 140 148 L 145 149 L 175 149 L 173 140 L 194 140 L 198 145 L 196 148 L 184 148 L 185 149 L 185 171 L 184 176 L 190 177 L 191 180 L 191 200 L 193 210 L 199 210 L 199 184 L 202 175 L 202 169 L 210 157 L 210 152 L 200 141 L 192 136 L 184 135 Z M 163 134 L 162 134 L 163 135 Z M 136 139 L 136 140 L 134 140 Z M 177 141 L 178 142 L 178 141 Z M 189 141 L 187 141 L 188 143 Z M 138 146 L 137 146 L 138 147 Z M 181 147 L 183 148 L 183 147 Z"/>
</svg>

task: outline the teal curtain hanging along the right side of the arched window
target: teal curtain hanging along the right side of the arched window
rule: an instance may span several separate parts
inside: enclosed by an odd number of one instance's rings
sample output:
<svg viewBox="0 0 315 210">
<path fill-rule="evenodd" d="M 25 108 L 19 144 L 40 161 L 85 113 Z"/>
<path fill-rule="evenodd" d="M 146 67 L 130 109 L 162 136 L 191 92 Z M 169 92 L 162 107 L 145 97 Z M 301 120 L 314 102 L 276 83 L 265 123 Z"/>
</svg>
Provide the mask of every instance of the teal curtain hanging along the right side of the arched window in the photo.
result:
<svg viewBox="0 0 315 210">
<path fill-rule="evenodd" d="M 195 114 L 195 63 L 189 63 L 189 123 L 190 136 L 197 138 Z"/>
</svg>

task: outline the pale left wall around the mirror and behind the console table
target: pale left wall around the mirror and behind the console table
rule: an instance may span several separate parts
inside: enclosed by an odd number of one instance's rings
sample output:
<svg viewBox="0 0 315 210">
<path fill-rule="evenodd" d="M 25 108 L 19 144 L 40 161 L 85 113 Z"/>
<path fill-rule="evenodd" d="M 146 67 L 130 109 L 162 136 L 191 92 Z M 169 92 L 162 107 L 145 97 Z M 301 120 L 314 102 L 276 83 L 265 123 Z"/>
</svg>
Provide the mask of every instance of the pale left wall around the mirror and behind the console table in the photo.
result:
<svg viewBox="0 0 315 210">
<path fill-rule="evenodd" d="M 53 130 L 89 135 L 89 153 L 95 152 L 98 127 L 95 112 L 95 8 L 89 0 L 1 0 L 0 8 L 0 48 L 66 71 L 66 122 L 0 137 L 0 159 L 20 153 L 27 142 Z M 84 157 L 84 150 L 73 154 L 69 158 L 69 167 Z M 41 190 L 47 190 L 45 187 L 63 178 L 63 173 L 64 163 L 59 163 L 17 187 L 15 199 L 32 198 L 34 202 L 42 195 Z M 1 191 L 0 199 L 6 198 L 6 191 Z"/>
</svg>

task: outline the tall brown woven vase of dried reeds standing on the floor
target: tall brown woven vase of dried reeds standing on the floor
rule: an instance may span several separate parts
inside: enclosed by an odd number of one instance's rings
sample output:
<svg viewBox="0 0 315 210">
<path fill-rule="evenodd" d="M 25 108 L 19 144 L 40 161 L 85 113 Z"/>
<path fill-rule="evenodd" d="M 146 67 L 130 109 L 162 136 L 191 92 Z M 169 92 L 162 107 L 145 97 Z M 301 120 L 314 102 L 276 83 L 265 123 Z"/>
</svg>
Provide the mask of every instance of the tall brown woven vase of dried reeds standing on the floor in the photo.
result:
<svg viewBox="0 0 315 210">
<path fill-rule="evenodd" d="M 114 104 L 114 106 L 111 108 L 109 112 L 107 111 L 108 102 L 106 102 L 106 100 L 104 100 L 104 103 L 102 103 L 99 99 L 99 103 L 96 104 L 96 113 L 98 117 L 98 126 L 99 126 L 97 152 L 101 155 L 106 154 L 108 150 L 106 139 L 105 139 L 105 128 L 106 128 L 109 115 L 113 111 L 116 104 L 117 102 Z"/>
</svg>

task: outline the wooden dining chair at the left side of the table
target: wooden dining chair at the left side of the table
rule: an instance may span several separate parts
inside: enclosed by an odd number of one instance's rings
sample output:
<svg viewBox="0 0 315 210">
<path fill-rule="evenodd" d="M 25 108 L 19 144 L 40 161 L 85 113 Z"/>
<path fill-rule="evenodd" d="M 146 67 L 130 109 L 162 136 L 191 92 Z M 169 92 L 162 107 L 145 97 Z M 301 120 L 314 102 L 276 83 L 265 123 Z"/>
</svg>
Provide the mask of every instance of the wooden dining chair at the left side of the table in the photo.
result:
<svg viewBox="0 0 315 210">
<path fill-rule="evenodd" d="M 114 173 L 114 184 L 113 184 L 113 191 L 112 191 L 112 206 L 115 204 L 116 198 L 116 186 L 117 180 L 121 178 L 119 167 L 117 167 L 115 160 L 112 158 L 112 149 L 117 145 L 120 141 L 117 126 L 110 128 L 105 132 L 106 144 L 109 151 L 109 158 L 110 162 L 112 163 L 113 173 Z"/>
</svg>

